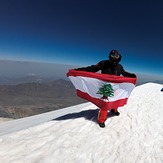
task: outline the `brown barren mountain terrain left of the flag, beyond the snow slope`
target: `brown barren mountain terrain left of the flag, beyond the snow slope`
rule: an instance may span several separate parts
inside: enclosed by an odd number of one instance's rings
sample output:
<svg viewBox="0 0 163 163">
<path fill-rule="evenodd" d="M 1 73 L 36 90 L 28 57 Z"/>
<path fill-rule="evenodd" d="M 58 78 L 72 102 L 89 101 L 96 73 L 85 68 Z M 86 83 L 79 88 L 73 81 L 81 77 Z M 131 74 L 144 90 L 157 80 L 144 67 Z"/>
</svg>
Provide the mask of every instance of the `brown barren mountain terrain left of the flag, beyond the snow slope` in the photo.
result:
<svg viewBox="0 0 163 163">
<path fill-rule="evenodd" d="M 70 81 L 0 85 L 0 117 L 22 118 L 86 102 Z"/>
</svg>

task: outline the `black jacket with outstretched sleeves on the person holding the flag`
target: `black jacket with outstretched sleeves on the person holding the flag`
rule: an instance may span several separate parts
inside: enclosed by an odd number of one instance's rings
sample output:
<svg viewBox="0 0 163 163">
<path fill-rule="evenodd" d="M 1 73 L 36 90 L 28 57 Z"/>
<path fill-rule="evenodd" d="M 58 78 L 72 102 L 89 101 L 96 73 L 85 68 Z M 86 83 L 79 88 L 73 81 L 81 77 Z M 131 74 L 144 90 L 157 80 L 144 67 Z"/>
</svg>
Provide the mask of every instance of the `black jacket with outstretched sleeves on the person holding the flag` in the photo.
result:
<svg viewBox="0 0 163 163">
<path fill-rule="evenodd" d="M 88 72 L 97 72 L 101 70 L 102 74 L 112 74 L 112 75 L 118 75 L 118 76 L 123 75 L 125 77 L 133 77 L 133 78 L 136 77 L 135 74 L 125 71 L 121 64 L 117 63 L 117 65 L 114 65 L 114 63 L 111 62 L 110 60 L 103 60 L 103 61 L 100 61 L 96 65 L 77 68 L 75 70 L 88 71 Z"/>
</svg>

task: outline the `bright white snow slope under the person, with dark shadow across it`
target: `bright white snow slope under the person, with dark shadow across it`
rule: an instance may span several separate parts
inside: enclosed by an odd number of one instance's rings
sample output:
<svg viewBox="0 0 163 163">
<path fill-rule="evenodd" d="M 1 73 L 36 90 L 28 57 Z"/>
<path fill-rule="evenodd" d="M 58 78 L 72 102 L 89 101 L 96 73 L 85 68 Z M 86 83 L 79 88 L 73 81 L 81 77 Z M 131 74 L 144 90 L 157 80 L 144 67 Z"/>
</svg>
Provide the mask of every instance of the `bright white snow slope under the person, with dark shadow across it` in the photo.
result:
<svg viewBox="0 0 163 163">
<path fill-rule="evenodd" d="M 162 87 L 136 87 L 120 116 L 108 114 L 105 128 L 96 123 L 98 108 L 91 103 L 38 115 L 42 121 L 4 122 L 0 162 L 163 163 Z"/>
</svg>

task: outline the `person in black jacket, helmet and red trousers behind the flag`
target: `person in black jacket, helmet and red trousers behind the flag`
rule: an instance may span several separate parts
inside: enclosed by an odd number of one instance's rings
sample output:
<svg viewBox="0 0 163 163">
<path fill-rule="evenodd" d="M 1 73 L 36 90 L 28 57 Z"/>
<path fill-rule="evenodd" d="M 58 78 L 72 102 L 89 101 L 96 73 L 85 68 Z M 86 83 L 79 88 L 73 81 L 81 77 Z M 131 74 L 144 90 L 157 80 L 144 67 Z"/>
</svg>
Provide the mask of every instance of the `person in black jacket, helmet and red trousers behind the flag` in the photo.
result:
<svg viewBox="0 0 163 163">
<path fill-rule="evenodd" d="M 136 78 L 135 74 L 125 71 L 123 66 L 119 64 L 121 59 L 122 56 L 118 52 L 118 50 L 111 50 L 109 53 L 109 60 L 102 60 L 96 65 L 76 68 L 75 70 L 88 71 L 88 72 L 97 72 L 101 70 L 102 74 L 111 74 L 111 75 L 118 75 L 118 76 L 123 75 L 124 77 Z M 116 116 L 120 115 L 120 113 L 118 112 L 118 108 L 113 108 L 111 112 Z M 100 127 L 105 127 L 107 114 L 108 114 L 108 110 L 106 108 L 100 108 L 98 118 L 97 118 Z"/>
</svg>

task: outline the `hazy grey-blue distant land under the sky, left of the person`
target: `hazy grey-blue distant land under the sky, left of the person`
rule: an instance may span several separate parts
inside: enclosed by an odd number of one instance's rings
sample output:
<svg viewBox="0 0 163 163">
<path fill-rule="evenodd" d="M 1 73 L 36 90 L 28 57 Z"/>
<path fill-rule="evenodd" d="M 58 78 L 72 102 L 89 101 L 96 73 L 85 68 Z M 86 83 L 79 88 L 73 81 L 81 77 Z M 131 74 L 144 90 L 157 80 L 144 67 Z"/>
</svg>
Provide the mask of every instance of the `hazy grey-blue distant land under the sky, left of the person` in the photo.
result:
<svg viewBox="0 0 163 163">
<path fill-rule="evenodd" d="M 74 67 L 56 63 L 0 60 L 0 85 L 68 80 L 66 73 Z"/>
</svg>

